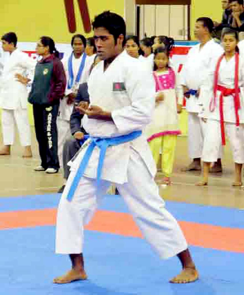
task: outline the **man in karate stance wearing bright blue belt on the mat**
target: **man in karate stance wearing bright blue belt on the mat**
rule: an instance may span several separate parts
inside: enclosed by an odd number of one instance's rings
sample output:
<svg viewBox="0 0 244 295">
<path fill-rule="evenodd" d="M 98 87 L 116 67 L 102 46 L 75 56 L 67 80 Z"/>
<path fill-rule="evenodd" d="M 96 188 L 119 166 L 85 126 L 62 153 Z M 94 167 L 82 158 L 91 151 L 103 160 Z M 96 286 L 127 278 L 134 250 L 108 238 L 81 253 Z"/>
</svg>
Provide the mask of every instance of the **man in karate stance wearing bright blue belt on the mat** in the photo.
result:
<svg viewBox="0 0 244 295">
<path fill-rule="evenodd" d="M 91 137 L 71 163 L 57 214 L 56 253 L 69 254 L 72 268 L 55 278 L 54 283 L 87 278 L 82 254 L 84 224 L 93 216 L 111 182 L 116 184 L 135 222 L 159 256 L 178 255 L 183 270 L 171 282 L 195 281 L 198 272 L 178 223 L 159 195 L 154 181 L 156 166 L 141 131 L 150 122 L 154 109 L 153 77 L 140 66 L 140 61 L 123 52 L 126 28 L 122 17 L 103 12 L 95 17 L 93 29 L 102 61 L 88 80 L 91 105 L 81 102 L 77 107 L 85 114 L 83 126 Z M 107 144 L 110 146 L 106 150 Z M 104 146 L 106 150 L 102 171 L 98 169 L 97 145 L 102 155 Z M 91 152 L 91 157 L 85 169 L 87 152 Z"/>
</svg>

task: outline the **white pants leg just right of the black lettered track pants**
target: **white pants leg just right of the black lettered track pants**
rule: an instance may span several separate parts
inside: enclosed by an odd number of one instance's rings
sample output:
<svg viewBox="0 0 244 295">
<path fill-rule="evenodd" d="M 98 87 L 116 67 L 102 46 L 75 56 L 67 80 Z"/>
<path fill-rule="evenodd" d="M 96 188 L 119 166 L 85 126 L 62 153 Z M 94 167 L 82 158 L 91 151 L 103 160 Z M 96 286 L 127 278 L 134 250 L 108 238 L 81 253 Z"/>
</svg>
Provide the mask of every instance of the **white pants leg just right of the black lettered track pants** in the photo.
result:
<svg viewBox="0 0 244 295">
<path fill-rule="evenodd" d="M 65 141 L 71 137 L 70 121 L 57 117 L 57 129 L 58 129 L 58 160 L 60 168 L 63 167 L 63 148 Z"/>
</svg>

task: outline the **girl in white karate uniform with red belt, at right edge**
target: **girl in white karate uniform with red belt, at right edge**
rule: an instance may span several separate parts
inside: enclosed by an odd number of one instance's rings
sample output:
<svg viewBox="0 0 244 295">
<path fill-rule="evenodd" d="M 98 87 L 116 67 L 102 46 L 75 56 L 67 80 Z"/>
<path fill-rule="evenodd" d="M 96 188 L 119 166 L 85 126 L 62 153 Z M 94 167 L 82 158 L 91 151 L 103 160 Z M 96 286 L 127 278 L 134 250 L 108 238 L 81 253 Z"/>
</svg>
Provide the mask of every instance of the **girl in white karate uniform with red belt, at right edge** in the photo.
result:
<svg viewBox="0 0 244 295">
<path fill-rule="evenodd" d="M 210 163 L 218 155 L 219 145 L 225 145 L 225 133 L 230 140 L 235 162 L 235 179 L 232 186 L 242 186 L 241 170 L 244 163 L 244 57 L 237 47 L 238 32 L 225 28 L 222 44 L 225 53 L 212 64 L 212 99 L 209 104 L 206 136 L 202 160 L 203 180 L 198 186 L 208 184 Z"/>
</svg>

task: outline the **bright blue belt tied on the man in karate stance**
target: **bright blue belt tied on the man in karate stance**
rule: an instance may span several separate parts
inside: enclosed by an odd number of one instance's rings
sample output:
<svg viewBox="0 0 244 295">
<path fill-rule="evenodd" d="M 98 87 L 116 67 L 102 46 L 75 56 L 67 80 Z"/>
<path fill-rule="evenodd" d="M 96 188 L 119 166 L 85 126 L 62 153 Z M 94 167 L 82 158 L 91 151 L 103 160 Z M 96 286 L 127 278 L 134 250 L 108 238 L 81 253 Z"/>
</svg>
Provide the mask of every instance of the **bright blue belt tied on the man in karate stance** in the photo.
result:
<svg viewBox="0 0 244 295">
<path fill-rule="evenodd" d="M 111 138 L 100 138 L 100 137 L 90 137 L 90 144 L 86 150 L 86 153 L 81 161 L 81 164 L 76 172 L 76 175 L 73 179 L 73 182 L 71 184 L 70 190 L 67 195 L 67 200 L 71 201 L 74 193 L 76 191 L 76 188 L 79 184 L 79 181 L 81 177 L 83 176 L 86 166 L 89 162 L 89 159 L 91 157 L 91 154 L 94 150 L 94 148 L 97 146 L 100 148 L 100 155 L 99 155 L 99 161 L 98 161 L 98 167 L 97 167 L 97 186 L 100 184 L 101 179 L 101 173 L 102 173 L 102 166 L 106 154 L 107 147 L 111 145 L 119 145 L 125 142 L 132 141 L 136 139 L 137 137 L 141 136 L 141 131 L 134 131 L 126 135 L 118 136 L 118 137 L 111 137 Z"/>
</svg>

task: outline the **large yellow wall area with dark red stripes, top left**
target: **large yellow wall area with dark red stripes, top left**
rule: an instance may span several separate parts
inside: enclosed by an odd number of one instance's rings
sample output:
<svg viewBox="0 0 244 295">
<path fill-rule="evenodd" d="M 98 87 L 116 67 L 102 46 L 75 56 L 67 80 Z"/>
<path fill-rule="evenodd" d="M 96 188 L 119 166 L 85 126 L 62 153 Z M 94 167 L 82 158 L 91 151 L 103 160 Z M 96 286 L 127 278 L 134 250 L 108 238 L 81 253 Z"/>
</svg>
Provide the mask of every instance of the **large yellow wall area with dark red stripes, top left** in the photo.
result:
<svg viewBox="0 0 244 295">
<path fill-rule="evenodd" d="M 78 1 L 73 2 L 77 32 L 84 34 Z M 104 10 L 124 15 L 124 0 L 87 0 L 87 3 L 91 19 Z M 68 31 L 64 0 L 1 0 L 0 15 L 0 35 L 14 31 L 19 41 L 35 42 L 40 36 L 48 35 L 55 42 L 69 43 L 74 35 Z"/>
</svg>

